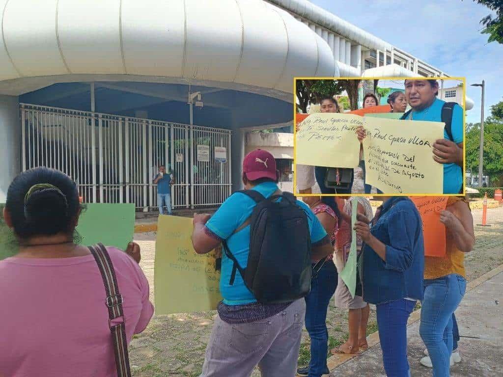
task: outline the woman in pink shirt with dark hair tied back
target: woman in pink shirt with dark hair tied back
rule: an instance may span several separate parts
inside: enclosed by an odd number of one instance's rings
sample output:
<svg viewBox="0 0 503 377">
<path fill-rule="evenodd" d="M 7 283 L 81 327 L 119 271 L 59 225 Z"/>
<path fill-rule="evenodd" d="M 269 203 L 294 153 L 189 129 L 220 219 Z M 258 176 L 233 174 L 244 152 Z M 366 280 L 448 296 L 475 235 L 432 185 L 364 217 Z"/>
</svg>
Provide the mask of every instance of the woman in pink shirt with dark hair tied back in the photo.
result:
<svg viewBox="0 0 503 377">
<path fill-rule="evenodd" d="M 116 376 L 102 275 L 74 243 L 81 206 L 70 177 L 45 167 L 14 179 L 4 210 L 19 252 L 0 261 L 0 375 Z M 127 342 L 153 314 L 139 247 L 108 247 L 123 297 Z"/>
</svg>

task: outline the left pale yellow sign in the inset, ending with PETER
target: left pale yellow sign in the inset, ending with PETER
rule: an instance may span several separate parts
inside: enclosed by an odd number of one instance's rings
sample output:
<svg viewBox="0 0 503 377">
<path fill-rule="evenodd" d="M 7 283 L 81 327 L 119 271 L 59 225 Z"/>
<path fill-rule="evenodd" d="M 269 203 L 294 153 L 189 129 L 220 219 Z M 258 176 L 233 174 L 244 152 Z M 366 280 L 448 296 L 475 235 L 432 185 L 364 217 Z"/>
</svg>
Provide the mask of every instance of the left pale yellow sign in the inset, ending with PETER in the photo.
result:
<svg viewBox="0 0 503 377">
<path fill-rule="evenodd" d="M 295 163 L 357 167 L 360 142 L 356 129 L 363 118 L 353 114 L 318 113 L 307 117 L 296 134 Z"/>
</svg>

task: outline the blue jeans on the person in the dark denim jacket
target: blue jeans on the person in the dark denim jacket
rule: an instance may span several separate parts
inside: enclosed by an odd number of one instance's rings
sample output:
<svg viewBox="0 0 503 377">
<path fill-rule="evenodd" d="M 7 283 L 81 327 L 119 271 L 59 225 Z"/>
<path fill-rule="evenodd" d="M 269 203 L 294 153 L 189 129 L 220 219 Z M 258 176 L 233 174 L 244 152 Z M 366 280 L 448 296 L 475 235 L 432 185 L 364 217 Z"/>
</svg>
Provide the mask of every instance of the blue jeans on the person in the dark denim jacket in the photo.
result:
<svg viewBox="0 0 503 377">
<path fill-rule="evenodd" d="M 407 320 L 415 301 L 400 299 L 376 306 L 382 360 L 388 377 L 409 377 Z"/>
</svg>

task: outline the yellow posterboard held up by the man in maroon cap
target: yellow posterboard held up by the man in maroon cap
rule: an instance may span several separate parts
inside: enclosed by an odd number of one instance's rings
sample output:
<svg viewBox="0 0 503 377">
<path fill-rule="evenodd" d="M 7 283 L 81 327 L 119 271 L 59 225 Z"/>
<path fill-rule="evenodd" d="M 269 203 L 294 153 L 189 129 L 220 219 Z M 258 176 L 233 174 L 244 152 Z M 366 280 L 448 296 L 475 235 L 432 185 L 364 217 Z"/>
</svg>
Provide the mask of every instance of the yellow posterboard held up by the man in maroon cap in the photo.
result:
<svg viewBox="0 0 503 377">
<path fill-rule="evenodd" d="M 155 314 L 206 312 L 222 300 L 214 251 L 192 247 L 192 219 L 159 216 L 155 241 Z"/>
</svg>

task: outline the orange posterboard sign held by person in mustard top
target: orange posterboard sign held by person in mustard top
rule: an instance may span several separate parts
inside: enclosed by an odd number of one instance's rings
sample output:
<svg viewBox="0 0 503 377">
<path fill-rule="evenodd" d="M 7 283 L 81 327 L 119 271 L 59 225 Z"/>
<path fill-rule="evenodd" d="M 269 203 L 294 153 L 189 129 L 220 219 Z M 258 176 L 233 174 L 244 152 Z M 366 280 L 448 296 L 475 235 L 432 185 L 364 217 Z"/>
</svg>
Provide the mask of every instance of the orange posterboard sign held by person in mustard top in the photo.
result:
<svg viewBox="0 0 503 377">
<path fill-rule="evenodd" d="M 446 253 L 445 225 L 440 213 L 445 210 L 449 197 L 411 197 L 423 221 L 425 255 L 443 257 Z"/>
</svg>

